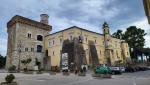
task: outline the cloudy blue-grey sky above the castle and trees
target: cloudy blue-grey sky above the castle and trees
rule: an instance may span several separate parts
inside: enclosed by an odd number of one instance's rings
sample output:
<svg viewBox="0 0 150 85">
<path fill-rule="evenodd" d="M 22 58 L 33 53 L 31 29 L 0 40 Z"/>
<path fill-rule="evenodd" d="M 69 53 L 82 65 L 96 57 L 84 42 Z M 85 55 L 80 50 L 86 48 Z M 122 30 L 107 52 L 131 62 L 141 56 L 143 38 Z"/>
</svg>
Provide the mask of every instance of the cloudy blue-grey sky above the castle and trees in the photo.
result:
<svg viewBox="0 0 150 85">
<path fill-rule="evenodd" d="M 6 55 L 6 23 L 14 15 L 40 21 L 42 13 L 49 15 L 52 32 L 75 25 L 102 33 L 104 21 L 111 33 L 134 25 L 148 33 L 145 45 L 150 47 L 150 27 L 142 0 L 0 0 L 0 54 Z"/>
</svg>

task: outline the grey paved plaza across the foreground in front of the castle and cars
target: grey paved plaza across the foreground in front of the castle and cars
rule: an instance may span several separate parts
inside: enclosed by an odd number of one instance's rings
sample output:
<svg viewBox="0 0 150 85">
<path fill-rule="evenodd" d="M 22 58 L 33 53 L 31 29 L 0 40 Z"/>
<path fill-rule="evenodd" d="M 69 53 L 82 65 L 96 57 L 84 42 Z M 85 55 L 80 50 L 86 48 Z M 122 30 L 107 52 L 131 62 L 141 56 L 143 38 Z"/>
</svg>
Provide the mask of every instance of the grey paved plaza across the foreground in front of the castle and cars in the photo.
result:
<svg viewBox="0 0 150 85">
<path fill-rule="evenodd" d="M 0 82 L 4 81 L 6 75 L 7 73 L 0 73 Z M 112 76 L 112 79 L 93 78 L 91 74 L 85 77 L 74 74 L 63 76 L 60 73 L 56 75 L 14 73 L 14 75 L 19 85 L 150 85 L 150 71 L 124 73 Z"/>
</svg>

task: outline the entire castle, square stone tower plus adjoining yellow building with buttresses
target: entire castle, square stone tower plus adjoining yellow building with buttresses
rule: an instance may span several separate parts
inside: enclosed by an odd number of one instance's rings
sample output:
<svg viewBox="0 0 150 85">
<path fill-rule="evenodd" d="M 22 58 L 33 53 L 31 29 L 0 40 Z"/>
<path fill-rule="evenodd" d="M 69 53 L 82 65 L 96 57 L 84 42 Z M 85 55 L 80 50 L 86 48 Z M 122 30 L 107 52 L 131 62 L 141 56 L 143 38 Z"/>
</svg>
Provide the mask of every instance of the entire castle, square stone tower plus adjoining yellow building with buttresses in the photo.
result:
<svg viewBox="0 0 150 85">
<path fill-rule="evenodd" d="M 40 22 L 16 15 L 7 27 L 6 67 L 15 65 L 22 69 L 20 61 L 27 58 L 32 59 L 31 69 L 36 58 L 42 68 L 61 67 L 63 53 L 68 53 L 69 65 L 115 65 L 130 58 L 128 43 L 112 37 L 106 22 L 102 26 L 103 34 L 77 26 L 49 34 L 52 26 L 48 24 L 47 14 L 41 15 Z"/>
</svg>

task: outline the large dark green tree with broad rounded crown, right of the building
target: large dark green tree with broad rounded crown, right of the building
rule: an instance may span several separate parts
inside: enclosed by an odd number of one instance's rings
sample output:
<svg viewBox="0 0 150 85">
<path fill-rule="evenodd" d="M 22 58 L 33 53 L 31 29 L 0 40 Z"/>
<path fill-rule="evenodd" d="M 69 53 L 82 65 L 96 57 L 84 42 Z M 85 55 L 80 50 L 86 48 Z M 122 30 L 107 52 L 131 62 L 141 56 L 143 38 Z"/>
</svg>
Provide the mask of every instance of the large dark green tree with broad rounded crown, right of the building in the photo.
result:
<svg viewBox="0 0 150 85">
<path fill-rule="evenodd" d="M 123 39 L 129 44 L 130 53 L 132 58 L 137 59 L 137 54 L 139 49 L 142 49 L 145 44 L 144 36 L 146 35 L 145 31 L 136 26 L 130 26 L 124 33 Z M 131 52 L 131 48 L 133 51 Z M 140 53 L 141 54 L 141 53 Z"/>
</svg>

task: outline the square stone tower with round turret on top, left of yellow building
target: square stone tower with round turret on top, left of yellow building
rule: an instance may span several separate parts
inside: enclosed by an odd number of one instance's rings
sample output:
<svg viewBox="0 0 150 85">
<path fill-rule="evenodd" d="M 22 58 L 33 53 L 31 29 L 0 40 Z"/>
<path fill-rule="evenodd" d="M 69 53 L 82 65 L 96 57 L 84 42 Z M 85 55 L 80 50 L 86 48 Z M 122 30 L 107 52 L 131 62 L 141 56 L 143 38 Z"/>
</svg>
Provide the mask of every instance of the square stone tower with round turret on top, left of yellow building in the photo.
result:
<svg viewBox="0 0 150 85">
<path fill-rule="evenodd" d="M 43 24 L 44 23 L 44 24 Z M 35 59 L 43 67 L 45 57 L 44 41 L 52 26 L 48 25 L 48 15 L 41 15 L 41 22 L 19 15 L 14 16 L 7 23 L 8 46 L 6 68 L 15 65 L 18 70 L 23 69 L 21 60 L 31 58 L 29 69 L 33 69 Z"/>
</svg>

